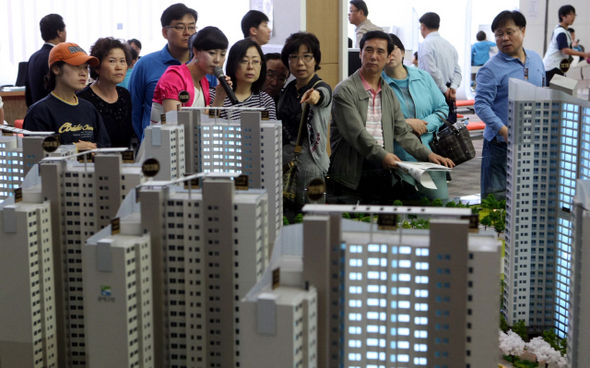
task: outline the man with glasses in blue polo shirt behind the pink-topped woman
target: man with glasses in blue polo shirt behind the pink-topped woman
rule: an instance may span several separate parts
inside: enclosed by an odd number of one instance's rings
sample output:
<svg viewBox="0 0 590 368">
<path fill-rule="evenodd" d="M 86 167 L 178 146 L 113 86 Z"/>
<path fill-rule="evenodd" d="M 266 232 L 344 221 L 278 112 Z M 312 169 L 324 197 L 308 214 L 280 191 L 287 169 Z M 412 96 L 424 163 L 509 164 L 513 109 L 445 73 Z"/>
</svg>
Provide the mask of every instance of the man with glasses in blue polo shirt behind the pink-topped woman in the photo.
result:
<svg viewBox="0 0 590 368">
<path fill-rule="evenodd" d="M 143 130 L 150 124 L 152 98 L 158 80 L 170 65 L 189 61 L 188 39 L 197 31 L 197 12 L 184 4 L 169 6 L 160 21 L 162 36 L 168 43 L 162 50 L 139 59 L 129 78 L 133 128 L 140 140 L 143 140 Z"/>
</svg>

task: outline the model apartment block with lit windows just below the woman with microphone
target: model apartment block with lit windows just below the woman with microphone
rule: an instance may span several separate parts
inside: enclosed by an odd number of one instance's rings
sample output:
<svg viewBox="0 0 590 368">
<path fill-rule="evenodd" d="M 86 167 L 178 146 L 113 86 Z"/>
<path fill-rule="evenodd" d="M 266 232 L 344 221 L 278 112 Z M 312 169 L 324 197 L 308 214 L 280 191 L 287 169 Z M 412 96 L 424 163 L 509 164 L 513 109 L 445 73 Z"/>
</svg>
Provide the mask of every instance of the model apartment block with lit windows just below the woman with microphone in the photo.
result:
<svg viewBox="0 0 590 368">
<path fill-rule="evenodd" d="M 207 172 L 247 175 L 251 189 L 267 191 L 272 249 L 283 224 L 282 125 L 280 121 L 261 120 L 260 109 L 234 110 L 239 120 L 212 118 L 202 109 L 168 112 L 167 123 L 146 128 L 138 161 L 156 158 L 162 173 L 173 173 L 171 178 Z M 154 179 L 166 180 L 160 174 Z"/>
</svg>

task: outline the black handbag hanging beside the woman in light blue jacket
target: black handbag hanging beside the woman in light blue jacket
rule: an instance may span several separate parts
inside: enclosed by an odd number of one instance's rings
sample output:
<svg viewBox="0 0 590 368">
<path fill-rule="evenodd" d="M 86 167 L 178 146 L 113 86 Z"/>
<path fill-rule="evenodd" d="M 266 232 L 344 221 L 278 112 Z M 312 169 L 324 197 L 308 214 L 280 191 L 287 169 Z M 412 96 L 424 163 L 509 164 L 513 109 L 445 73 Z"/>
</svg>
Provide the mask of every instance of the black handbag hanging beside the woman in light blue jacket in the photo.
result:
<svg viewBox="0 0 590 368">
<path fill-rule="evenodd" d="M 445 123 L 442 129 L 434 133 L 430 149 L 432 152 L 453 160 L 455 165 L 462 164 L 475 157 L 475 148 L 467 126 L 462 122 L 451 123 L 444 117 L 441 120 Z"/>
</svg>

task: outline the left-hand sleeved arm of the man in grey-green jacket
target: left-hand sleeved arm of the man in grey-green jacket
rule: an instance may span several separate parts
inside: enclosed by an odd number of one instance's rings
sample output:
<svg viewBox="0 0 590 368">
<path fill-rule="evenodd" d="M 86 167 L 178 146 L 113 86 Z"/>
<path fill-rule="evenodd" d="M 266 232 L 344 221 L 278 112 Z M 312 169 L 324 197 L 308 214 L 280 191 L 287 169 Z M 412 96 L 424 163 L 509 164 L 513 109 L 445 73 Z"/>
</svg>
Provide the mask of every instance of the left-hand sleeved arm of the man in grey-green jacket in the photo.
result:
<svg viewBox="0 0 590 368">
<path fill-rule="evenodd" d="M 388 152 L 367 132 L 365 122 L 354 103 L 357 98 L 347 86 L 337 86 L 334 90 L 332 120 L 342 139 L 351 147 L 367 160 L 382 163 Z"/>
</svg>

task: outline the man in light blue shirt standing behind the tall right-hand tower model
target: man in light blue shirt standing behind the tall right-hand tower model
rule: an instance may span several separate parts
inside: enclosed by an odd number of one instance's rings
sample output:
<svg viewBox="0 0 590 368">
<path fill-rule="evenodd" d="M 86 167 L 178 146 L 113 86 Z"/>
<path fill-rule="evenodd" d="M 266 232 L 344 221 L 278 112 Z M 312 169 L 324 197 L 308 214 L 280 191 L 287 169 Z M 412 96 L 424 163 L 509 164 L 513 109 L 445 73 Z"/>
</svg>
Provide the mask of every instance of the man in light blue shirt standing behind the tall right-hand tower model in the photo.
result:
<svg viewBox="0 0 590 368">
<path fill-rule="evenodd" d="M 492 22 L 498 54 L 477 73 L 475 113 L 486 124 L 481 164 L 481 198 L 494 194 L 506 198 L 508 141 L 508 80 L 526 80 L 543 86 L 545 68 L 536 52 L 522 47 L 526 19 L 520 12 L 505 10 Z"/>
</svg>

